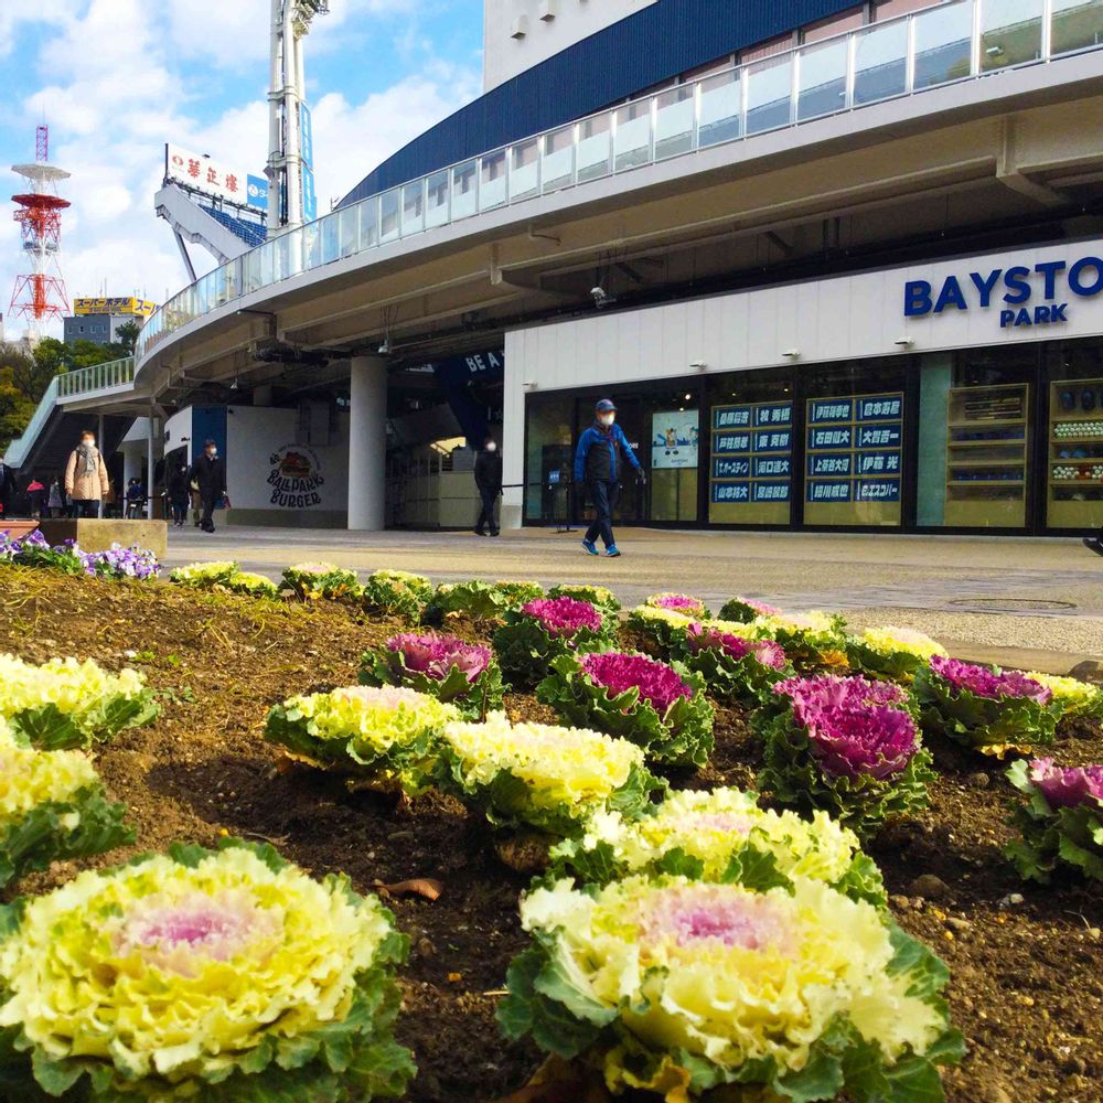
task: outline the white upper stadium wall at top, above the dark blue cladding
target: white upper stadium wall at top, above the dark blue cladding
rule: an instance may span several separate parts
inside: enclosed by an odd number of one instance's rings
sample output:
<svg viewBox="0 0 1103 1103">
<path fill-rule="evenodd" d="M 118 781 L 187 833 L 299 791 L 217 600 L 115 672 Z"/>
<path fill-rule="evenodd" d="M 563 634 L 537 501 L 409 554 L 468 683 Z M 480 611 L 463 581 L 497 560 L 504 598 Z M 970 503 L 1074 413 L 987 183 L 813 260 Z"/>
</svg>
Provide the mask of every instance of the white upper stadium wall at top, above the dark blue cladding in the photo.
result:
<svg viewBox="0 0 1103 1103">
<path fill-rule="evenodd" d="M 483 88 L 504 84 L 655 0 L 485 0 Z"/>
</svg>

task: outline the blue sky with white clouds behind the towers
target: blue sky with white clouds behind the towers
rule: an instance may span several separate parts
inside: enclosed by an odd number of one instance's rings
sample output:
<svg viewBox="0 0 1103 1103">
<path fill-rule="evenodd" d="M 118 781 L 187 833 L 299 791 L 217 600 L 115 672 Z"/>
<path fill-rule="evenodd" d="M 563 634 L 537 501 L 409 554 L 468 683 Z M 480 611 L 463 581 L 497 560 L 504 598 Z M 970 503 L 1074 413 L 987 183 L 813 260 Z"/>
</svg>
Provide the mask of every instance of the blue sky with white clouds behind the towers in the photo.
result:
<svg viewBox="0 0 1103 1103">
<path fill-rule="evenodd" d="M 164 142 L 263 174 L 268 153 L 270 0 L 0 0 L 0 180 L 50 159 L 73 178 L 62 231 L 69 299 L 186 282 L 169 224 L 153 213 Z M 331 0 L 307 40 L 319 213 L 379 161 L 481 92 L 479 0 Z M 9 211 L 14 207 L 6 204 Z M 189 246 L 196 270 L 214 267 Z M 19 227 L 0 211 L 6 335 Z M 57 336 L 61 335 L 57 326 Z"/>
</svg>

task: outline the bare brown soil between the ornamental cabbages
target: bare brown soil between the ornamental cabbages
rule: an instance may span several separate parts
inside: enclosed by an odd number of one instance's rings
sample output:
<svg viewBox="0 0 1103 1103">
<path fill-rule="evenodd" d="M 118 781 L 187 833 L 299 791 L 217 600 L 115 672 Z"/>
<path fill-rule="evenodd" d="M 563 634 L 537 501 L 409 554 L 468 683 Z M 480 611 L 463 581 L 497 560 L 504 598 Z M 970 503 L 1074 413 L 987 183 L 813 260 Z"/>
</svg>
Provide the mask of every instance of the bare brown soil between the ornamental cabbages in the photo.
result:
<svg viewBox="0 0 1103 1103">
<path fill-rule="evenodd" d="M 493 1018 L 506 965 L 524 944 L 516 897 L 526 879 L 501 865 L 460 805 L 351 795 L 324 775 L 281 771 L 260 736 L 274 703 L 354 683 L 361 652 L 395 627 L 334 604 L 0 568 L 0 651 L 35 662 L 90 656 L 111 668 L 130 662 L 161 694 L 154 726 L 99 753 L 105 782 L 131 808 L 136 852 L 243 835 L 275 843 L 318 874 L 343 870 L 361 891 L 415 877 L 443 884 L 432 902 L 388 901 L 411 941 L 400 1037 L 420 1071 L 408 1097 L 483 1103 L 516 1091 L 539 1063 L 534 1047 L 506 1043 Z M 507 708 L 552 719 L 527 696 L 512 695 Z M 949 745 L 934 751 L 940 778 L 930 812 L 886 829 L 870 852 L 898 921 L 952 971 L 951 1007 L 970 1054 L 947 1073 L 947 1099 L 1103 1101 L 1103 896 L 1074 881 L 1024 886 L 1000 850 L 1016 795 L 1003 768 Z M 1069 726 L 1059 757 L 1103 761 L 1103 732 Z M 708 770 L 672 780 L 750 786 L 757 764 L 746 717 L 720 709 Z M 125 857 L 115 852 L 98 864 Z M 72 872 L 58 865 L 20 888 L 35 891 Z M 911 885 L 923 874 L 944 882 L 942 899 L 917 896 Z"/>
</svg>

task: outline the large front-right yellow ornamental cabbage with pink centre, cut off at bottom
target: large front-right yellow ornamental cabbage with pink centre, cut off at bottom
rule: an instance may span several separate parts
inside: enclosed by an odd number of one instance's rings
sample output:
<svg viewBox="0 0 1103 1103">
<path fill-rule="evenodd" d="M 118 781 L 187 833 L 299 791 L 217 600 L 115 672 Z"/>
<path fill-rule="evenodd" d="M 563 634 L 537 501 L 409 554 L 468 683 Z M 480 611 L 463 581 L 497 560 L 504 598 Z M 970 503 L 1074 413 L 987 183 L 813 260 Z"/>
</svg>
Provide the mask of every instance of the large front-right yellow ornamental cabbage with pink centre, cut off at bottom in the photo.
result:
<svg viewBox="0 0 1103 1103">
<path fill-rule="evenodd" d="M 521 915 L 533 942 L 510 968 L 503 1030 L 586 1060 L 613 1092 L 689 1100 L 740 1084 L 802 1103 L 839 1091 L 933 1103 L 932 1065 L 963 1050 L 945 966 L 821 881 L 795 878 L 790 895 L 565 880 L 531 892 Z"/>
</svg>

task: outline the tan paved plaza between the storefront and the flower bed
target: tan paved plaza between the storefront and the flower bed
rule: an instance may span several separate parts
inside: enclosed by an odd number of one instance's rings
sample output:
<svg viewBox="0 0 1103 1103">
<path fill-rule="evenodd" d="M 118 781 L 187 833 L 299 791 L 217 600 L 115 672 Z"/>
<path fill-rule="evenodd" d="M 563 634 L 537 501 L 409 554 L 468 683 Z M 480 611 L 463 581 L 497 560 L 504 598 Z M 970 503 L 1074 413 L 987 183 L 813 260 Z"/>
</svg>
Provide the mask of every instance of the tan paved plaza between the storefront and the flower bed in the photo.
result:
<svg viewBox="0 0 1103 1103">
<path fill-rule="evenodd" d="M 272 578 L 289 564 L 325 559 L 362 574 L 414 570 L 438 582 L 597 582 L 625 606 L 656 590 L 685 590 L 714 608 L 740 593 L 790 611 L 845 610 L 856 625 L 917 628 L 955 653 L 990 653 L 1052 673 L 1103 657 L 1103 558 L 1079 540 L 619 529 L 624 555 L 595 559 L 579 538 L 543 529 L 480 539 L 237 527 L 207 536 L 189 528 L 170 531 L 168 561 L 233 558 Z"/>
</svg>

